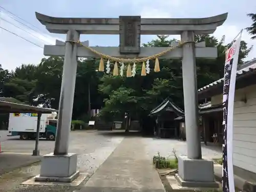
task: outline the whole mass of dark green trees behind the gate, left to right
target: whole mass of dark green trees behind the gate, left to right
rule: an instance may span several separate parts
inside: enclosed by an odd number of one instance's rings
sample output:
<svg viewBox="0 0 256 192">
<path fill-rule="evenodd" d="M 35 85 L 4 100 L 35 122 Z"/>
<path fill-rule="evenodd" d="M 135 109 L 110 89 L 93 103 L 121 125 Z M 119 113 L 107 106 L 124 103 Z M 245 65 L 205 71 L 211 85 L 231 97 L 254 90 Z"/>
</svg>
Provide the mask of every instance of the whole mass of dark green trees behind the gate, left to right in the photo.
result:
<svg viewBox="0 0 256 192">
<path fill-rule="evenodd" d="M 198 88 L 221 77 L 224 73 L 224 39 L 214 36 L 196 36 L 196 42 L 205 41 L 206 47 L 217 47 L 218 58 L 197 59 Z M 158 35 L 156 39 L 143 44 L 144 47 L 169 47 L 176 39 Z M 241 42 L 239 63 L 243 63 L 251 48 Z M 126 113 L 132 119 L 139 119 L 155 108 L 166 97 L 183 108 L 183 83 L 180 59 L 159 59 L 160 72 L 153 72 L 154 61 L 150 61 L 152 72 L 141 76 L 141 65 L 137 65 L 135 77 L 112 76 L 98 72 L 99 59 L 78 59 L 73 119 L 88 119 L 89 109 L 100 109 L 102 118 L 118 120 Z M 1 97 L 11 97 L 33 104 L 39 94 L 51 99 L 52 108 L 58 109 L 62 78 L 62 57 L 42 58 L 38 65 L 21 65 L 13 71 L 0 66 Z M 89 91 L 90 90 L 90 91 Z M 89 102 L 90 94 L 90 102 Z"/>
</svg>

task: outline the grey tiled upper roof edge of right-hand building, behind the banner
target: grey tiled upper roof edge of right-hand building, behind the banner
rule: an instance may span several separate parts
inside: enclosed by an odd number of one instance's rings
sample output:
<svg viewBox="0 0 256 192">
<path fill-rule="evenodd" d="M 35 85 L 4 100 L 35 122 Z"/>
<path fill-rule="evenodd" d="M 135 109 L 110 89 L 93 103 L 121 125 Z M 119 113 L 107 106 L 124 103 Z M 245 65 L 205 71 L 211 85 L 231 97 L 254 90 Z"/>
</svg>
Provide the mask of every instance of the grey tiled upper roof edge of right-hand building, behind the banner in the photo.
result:
<svg viewBox="0 0 256 192">
<path fill-rule="evenodd" d="M 241 77 L 243 75 L 252 73 L 252 72 L 256 72 L 256 63 L 253 63 L 252 65 L 237 71 L 237 78 L 239 78 L 239 77 Z M 208 90 L 211 87 L 218 86 L 219 84 L 223 83 L 223 81 L 224 81 L 224 78 L 221 78 L 221 79 L 219 79 L 219 80 L 217 80 L 215 82 L 212 82 L 212 83 L 208 84 L 207 86 L 204 86 L 203 88 L 200 88 L 198 90 L 198 92 L 200 93 L 201 91 Z"/>
</svg>

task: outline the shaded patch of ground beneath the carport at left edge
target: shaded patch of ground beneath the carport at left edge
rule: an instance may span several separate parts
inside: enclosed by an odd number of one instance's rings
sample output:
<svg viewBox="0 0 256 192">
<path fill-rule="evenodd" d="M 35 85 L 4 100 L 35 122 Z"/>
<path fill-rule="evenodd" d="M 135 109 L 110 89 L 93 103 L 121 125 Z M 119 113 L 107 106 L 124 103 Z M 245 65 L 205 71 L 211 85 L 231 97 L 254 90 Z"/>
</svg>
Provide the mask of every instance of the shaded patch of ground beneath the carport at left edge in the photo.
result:
<svg viewBox="0 0 256 192">
<path fill-rule="evenodd" d="M 0 175 L 40 160 L 40 156 L 0 153 Z"/>
</svg>

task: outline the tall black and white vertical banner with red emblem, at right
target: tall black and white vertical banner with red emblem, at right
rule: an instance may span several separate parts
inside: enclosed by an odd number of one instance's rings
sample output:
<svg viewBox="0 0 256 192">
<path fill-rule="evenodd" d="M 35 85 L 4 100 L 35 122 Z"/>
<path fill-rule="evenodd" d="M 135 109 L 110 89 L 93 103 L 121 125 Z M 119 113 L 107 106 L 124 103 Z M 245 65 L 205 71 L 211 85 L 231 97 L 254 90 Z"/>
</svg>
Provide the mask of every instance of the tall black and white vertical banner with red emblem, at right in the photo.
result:
<svg viewBox="0 0 256 192">
<path fill-rule="evenodd" d="M 223 84 L 223 192 L 234 192 L 233 176 L 233 108 L 238 56 L 242 31 L 226 51 Z"/>
</svg>

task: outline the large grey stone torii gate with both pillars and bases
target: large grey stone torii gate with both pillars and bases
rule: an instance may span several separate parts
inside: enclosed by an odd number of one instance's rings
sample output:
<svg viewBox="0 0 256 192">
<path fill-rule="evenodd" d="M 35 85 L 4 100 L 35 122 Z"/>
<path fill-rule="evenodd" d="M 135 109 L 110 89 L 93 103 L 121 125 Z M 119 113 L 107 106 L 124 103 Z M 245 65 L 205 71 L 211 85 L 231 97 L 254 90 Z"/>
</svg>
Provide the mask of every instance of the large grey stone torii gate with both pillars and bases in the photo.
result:
<svg viewBox="0 0 256 192">
<path fill-rule="evenodd" d="M 181 41 L 189 41 L 161 56 L 182 58 L 183 91 L 186 122 L 187 156 L 179 157 L 179 173 L 176 178 L 182 186 L 216 186 L 213 162 L 202 159 L 198 129 L 198 99 L 196 57 L 216 58 L 217 48 L 205 47 L 204 42 L 195 45 L 194 36 L 211 34 L 221 26 L 227 13 L 207 18 L 60 18 L 36 13 L 39 22 L 51 33 L 67 34 L 67 41 L 46 45 L 46 56 L 65 56 L 59 101 L 57 135 L 54 153 L 44 156 L 40 175 L 36 181 L 71 182 L 78 175 L 77 155 L 68 153 L 70 126 L 73 110 L 77 57 L 99 57 L 88 49 L 71 41 L 78 41 L 80 34 L 119 34 L 119 47 L 92 47 L 100 53 L 122 58 L 147 57 L 168 48 L 140 47 L 140 35 L 181 35 Z M 83 42 L 89 46 L 89 42 Z M 67 168 L 68 167 L 68 168 Z"/>
</svg>

